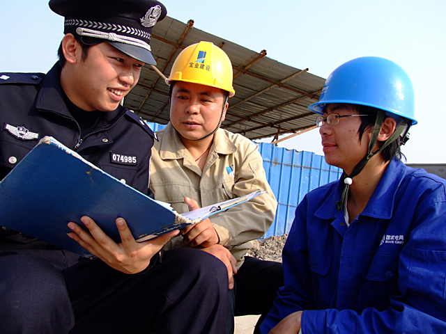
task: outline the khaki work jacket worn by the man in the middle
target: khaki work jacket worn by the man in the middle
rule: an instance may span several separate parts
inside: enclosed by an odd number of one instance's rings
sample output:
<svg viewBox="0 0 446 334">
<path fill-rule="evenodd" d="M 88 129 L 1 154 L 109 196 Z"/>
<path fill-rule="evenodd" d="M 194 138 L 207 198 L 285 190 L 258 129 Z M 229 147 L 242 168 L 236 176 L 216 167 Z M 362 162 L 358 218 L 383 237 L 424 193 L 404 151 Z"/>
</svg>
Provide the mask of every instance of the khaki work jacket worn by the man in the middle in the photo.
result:
<svg viewBox="0 0 446 334">
<path fill-rule="evenodd" d="M 210 217 L 220 244 L 236 257 L 237 267 L 252 247 L 250 241 L 265 234 L 274 221 L 277 201 L 266 180 L 263 161 L 256 144 L 224 129 L 215 132 L 203 172 L 171 126 L 157 132 L 152 148 L 150 187 L 155 200 L 168 202 L 178 213 L 189 211 L 184 197 L 197 200 L 200 207 L 237 198 L 257 189 L 266 190 L 249 202 Z M 187 247 L 175 237 L 164 249 Z"/>
</svg>

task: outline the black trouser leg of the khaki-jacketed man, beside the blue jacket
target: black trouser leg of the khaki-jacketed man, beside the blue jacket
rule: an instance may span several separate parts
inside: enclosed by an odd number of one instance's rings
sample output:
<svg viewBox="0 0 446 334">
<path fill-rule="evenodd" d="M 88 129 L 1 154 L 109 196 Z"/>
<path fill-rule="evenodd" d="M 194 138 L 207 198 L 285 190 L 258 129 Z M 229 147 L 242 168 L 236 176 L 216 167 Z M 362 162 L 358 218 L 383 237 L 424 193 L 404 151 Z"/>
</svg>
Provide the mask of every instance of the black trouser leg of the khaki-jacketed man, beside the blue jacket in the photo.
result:
<svg viewBox="0 0 446 334">
<path fill-rule="evenodd" d="M 277 289 L 284 285 L 281 262 L 259 260 L 245 256 L 245 262 L 234 276 L 236 281 L 236 307 L 234 314 L 261 315 L 254 334 L 272 308 Z"/>
</svg>

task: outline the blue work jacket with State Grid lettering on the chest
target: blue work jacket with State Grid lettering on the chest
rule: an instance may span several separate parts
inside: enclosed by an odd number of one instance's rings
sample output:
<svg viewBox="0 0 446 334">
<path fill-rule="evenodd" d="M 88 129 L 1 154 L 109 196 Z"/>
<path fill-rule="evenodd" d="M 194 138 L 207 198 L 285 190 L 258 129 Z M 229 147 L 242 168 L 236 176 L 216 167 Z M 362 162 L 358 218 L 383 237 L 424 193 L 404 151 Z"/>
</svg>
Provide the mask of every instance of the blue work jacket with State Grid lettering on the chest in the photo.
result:
<svg viewBox="0 0 446 334">
<path fill-rule="evenodd" d="M 446 333 L 446 181 L 392 160 L 349 227 L 343 186 L 298 205 L 261 333 L 299 310 L 302 334 Z"/>
</svg>

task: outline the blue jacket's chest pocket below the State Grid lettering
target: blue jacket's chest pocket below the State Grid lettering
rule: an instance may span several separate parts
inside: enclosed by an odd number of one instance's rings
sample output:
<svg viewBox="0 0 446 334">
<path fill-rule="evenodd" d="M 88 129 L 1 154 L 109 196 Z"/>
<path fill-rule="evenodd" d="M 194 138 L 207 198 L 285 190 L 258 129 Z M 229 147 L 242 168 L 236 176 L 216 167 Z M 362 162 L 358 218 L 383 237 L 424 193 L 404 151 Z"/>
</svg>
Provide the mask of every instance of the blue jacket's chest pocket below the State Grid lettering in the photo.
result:
<svg viewBox="0 0 446 334">
<path fill-rule="evenodd" d="M 357 308 L 376 308 L 383 311 L 390 306 L 390 297 L 399 294 L 399 254 L 376 254 L 360 292 Z"/>
</svg>

